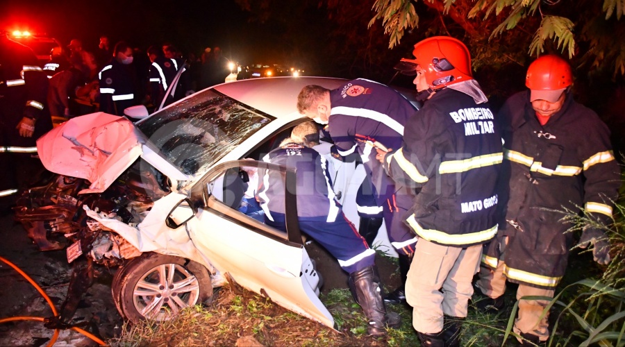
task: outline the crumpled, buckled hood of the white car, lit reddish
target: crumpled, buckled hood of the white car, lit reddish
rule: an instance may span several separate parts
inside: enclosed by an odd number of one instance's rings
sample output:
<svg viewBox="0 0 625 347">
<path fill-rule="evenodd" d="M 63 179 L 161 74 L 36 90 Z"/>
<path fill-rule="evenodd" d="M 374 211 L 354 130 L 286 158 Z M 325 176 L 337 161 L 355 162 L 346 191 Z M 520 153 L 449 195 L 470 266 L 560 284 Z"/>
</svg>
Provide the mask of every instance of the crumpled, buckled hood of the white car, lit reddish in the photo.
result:
<svg viewBox="0 0 625 347">
<path fill-rule="evenodd" d="M 79 194 L 103 192 L 140 156 L 176 180 L 189 179 L 145 144 L 131 121 L 97 112 L 53 128 L 37 140 L 37 151 L 49 171 L 91 183 Z"/>
</svg>

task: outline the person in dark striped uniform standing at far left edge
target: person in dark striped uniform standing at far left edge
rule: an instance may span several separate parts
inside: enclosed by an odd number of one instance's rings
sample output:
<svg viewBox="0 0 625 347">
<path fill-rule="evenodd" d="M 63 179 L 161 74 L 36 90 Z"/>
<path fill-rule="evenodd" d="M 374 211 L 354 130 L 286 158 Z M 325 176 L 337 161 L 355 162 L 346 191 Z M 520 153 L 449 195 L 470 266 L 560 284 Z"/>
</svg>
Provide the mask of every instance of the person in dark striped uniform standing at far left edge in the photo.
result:
<svg viewBox="0 0 625 347">
<path fill-rule="evenodd" d="M 38 178 L 35 141 L 52 128 L 46 107 L 48 81 L 33 51 L 0 32 L 0 207 Z"/>
</svg>

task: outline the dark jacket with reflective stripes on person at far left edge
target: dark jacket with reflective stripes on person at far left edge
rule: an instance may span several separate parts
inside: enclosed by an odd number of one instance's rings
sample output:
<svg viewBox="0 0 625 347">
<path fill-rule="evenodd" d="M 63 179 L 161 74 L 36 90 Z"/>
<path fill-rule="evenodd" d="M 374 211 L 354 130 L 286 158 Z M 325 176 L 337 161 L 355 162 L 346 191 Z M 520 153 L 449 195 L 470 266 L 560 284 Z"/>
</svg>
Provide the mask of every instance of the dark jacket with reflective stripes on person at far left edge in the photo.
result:
<svg viewBox="0 0 625 347">
<path fill-rule="evenodd" d="M 48 78 L 28 47 L 0 34 L 1 146 L 35 146 L 35 140 L 52 128 L 47 110 Z M 15 128 L 23 117 L 35 119 L 33 137 L 21 137 Z"/>
</svg>

